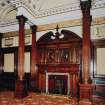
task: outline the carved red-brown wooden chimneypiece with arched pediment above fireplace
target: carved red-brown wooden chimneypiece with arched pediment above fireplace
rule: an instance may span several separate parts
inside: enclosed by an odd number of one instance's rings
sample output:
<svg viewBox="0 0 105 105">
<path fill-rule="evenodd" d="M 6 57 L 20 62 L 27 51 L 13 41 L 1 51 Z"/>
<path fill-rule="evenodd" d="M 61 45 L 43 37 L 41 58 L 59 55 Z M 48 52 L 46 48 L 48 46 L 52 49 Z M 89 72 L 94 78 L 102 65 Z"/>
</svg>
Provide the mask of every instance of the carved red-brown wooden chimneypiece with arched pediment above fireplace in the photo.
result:
<svg viewBox="0 0 105 105">
<path fill-rule="evenodd" d="M 63 75 L 67 73 L 70 77 L 70 95 L 77 96 L 77 82 L 80 72 L 81 63 L 81 42 L 82 39 L 69 30 L 61 30 L 61 33 L 48 32 L 37 41 L 38 49 L 38 73 L 39 73 L 39 89 L 46 91 L 46 75 L 48 76 L 49 88 L 53 77 L 51 73 Z M 61 78 L 59 77 L 59 78 Z M 54 78 L 58 78 L 55 76 Z M 66 81 L 66 79 L 65 79 Z M 68 85 L 68 84 L 66 84 Z M 48 89 L 48 91 L 51 91 Z M 67 94 L 67 89 L 64 94 Z"/>
</svg>

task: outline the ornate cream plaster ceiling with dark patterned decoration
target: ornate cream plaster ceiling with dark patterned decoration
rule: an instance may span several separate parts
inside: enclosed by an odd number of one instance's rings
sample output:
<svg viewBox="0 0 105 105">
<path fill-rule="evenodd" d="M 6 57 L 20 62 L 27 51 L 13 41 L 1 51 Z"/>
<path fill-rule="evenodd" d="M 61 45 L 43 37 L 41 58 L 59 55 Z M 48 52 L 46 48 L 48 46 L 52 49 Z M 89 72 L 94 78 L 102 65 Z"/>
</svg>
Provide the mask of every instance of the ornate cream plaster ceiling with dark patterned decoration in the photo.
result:
<svg viewBox="0 0 105 105">
<path fill-rule="evenodd" d="M 92 9 L 98 8 L 105 8 L 105 0 L 92 0 Z M 79 12 L 75 12 L 78 10 Z M 68 17 L 80 18 L 77 15 L 80 13 L 80 0 L 0 0 L 0 28 L 17 24 L 16 15 L 21 14 L 33 20 L 34 24 L 38 23 L 36 22 L 38 19 L 43 24 L 41 19 L 45 20 L 45 17 L 47 19 L 62 15 L 60 17 L 62 19 L 69 14 Z M 95 14 L 94 11 L 92 13 Z"/>
</svg>

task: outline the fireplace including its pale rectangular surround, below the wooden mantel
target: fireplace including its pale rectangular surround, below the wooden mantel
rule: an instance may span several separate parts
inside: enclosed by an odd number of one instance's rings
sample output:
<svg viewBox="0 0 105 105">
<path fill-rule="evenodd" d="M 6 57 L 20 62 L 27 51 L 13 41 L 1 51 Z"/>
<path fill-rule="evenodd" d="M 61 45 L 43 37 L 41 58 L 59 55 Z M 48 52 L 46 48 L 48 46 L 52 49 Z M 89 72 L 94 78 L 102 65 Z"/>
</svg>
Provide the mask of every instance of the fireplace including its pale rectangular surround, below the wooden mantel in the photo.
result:
<svg viewBox="0 0 105 105">
<path fill-rule="evenodd" d="M 69 94 L 70 80 L 68 73 L 46 73 L 46 92 Z"/>
</svg>

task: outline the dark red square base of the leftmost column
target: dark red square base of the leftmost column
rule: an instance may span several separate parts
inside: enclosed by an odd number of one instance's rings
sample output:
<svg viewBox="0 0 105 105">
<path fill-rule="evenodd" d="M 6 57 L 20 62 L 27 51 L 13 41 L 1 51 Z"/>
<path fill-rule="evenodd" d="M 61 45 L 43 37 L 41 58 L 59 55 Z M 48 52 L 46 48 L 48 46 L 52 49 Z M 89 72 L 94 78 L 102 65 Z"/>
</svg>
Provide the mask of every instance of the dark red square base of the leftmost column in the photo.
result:
<svg viewBox="0 0 105 105">
<path fill-rule="evenodd" d="M 14 96 L 16 98 L 24 98 L 28 95 L 26 80 L 17 80 L 15 83 Z"/>
</svg>

